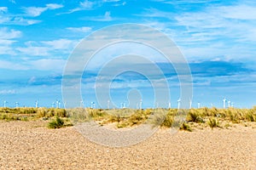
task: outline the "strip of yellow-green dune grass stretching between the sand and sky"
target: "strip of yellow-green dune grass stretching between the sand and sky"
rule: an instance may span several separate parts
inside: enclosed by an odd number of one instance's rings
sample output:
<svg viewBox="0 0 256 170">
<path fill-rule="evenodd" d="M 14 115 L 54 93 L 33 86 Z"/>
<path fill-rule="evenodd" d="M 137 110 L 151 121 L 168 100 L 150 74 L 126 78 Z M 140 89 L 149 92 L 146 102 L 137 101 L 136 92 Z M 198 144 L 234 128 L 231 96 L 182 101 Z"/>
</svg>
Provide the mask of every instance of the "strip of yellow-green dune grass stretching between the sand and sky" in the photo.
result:
<svg viewBox="0 0 256 170">
<path fill-rule="evenodd" d="M 250 126 L 256 122 L 256 107 L 253 109 L 201 108 L 179 111 L 177 109 L 0 108 L 0 120 L 34 121 L 38 119 L 48 122 L 50 128 L 90 121 L 95 121 L 102 126 L 113 124 L 118 128 L 133 127 L 147 122 L 153 127 L 179 127 L 181 130 L 192 131 L 194 127 L 213 129 L 214 127 L 232 127 L 236 123 Z"/>
</svg>

